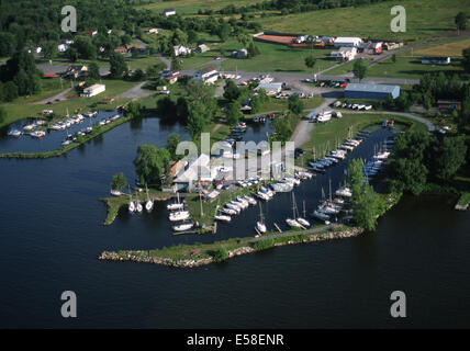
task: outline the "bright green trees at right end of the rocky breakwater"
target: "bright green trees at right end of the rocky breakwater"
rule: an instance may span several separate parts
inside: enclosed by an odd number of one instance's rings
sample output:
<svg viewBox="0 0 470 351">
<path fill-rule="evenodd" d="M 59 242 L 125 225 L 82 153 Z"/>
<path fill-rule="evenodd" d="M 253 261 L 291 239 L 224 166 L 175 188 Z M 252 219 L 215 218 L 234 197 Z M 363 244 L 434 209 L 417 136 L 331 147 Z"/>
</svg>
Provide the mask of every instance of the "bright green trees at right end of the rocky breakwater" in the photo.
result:
<svg viewBox="0 0 470 351">
<path fill-rule="evenodd" d="M 367 230 L 377 227 L 377 218 L 384 211 L 383 199 L 365 182 L 362 162 L 354 159 L 348 165 L 348 185 L 351 189 L 351 207 L 354 220 Z"/>
</svg>

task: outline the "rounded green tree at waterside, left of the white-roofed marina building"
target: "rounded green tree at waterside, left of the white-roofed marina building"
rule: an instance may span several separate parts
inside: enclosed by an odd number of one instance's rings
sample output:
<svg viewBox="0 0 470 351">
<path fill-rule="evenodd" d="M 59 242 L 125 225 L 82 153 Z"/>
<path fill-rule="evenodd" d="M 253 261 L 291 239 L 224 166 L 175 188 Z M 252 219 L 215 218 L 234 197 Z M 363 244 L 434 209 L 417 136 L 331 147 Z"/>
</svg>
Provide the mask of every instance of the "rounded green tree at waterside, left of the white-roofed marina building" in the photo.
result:
<svg viewBox="0 0 470 351">
<path fill-rule="evenodd" d="M 159 188 L 164 169 L 168 167 L 170 154 L 166 148 L 157 149 L 154 145 L 141 145 L 134 159 L 135 173 L 141 184 Z"/>
</svg>

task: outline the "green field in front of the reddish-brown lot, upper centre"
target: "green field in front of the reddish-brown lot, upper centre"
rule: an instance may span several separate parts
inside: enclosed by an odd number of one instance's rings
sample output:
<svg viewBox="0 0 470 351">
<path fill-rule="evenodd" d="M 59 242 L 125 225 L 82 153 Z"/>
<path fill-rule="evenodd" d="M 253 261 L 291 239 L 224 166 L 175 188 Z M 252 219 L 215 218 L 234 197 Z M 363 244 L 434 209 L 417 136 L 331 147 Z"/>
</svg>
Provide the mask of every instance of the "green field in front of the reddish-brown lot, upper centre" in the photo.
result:
<svg viewBox="0 0 470 351">
<path fill-rule="evenodd" d="M 329 49 L 302 49 L 291 48 L 284 45 L 256 43 L 260 55 L 248 59 L 228 59 L 222 63 L 222 68 L 227 71 L 244 70 L 250 72 L 301 72 L 311 73 L 305 66 L 305 57 L 311 53 L 316 58 L 315 71 L 333 65 L 336 60 L 329 57 Z"/>
</svg>

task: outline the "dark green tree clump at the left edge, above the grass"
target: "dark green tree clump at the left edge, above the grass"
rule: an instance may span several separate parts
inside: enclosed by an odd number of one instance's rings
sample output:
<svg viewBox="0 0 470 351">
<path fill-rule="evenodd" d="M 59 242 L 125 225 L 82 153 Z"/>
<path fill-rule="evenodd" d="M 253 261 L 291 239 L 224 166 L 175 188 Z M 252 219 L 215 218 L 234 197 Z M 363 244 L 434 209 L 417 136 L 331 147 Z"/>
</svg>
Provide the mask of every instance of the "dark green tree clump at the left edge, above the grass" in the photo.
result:
<svg viewBox="0 0 470 351">
<path fill-rule="evenodd" d="M 0 101 L 12 101 L 18 97 L 41 92 L 43 72 L 36 68 L 34 57 L 20 50 L 0 66 Z"/>
</svg>

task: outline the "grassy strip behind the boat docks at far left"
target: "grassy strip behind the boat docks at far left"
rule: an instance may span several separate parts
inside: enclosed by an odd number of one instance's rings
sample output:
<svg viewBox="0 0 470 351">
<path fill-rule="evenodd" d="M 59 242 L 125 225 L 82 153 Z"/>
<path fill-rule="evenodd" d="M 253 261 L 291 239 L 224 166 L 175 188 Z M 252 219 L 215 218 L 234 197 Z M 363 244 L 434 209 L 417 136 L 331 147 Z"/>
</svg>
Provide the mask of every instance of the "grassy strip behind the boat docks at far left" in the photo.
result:
<svg viewBox="0 0 470 351">
<path fill-rule="evenodd" d="M 36 117 L 44 109 L 53 110 L 54 113 L 58 115 L 65 115 L 67 113 L 67 109 L 70 114 L 81 110 L 87 110 L 87 109 L 94 109 L 94 110 L 99 107 L 111 109 L 113 106 L 120 105 L 128 101 L 130 99 L 116 99 L 113 103 L 105 104 L 105 105 L 98 105 L 98 102 L 103 98 L 114 98 L 138 83 L 138 82 L 111 80 L 111 79 L 110 80 L 103 79 L 102 82 L 107 86 L 107 90 L 103 93 L 93 98 L 75 98 L 75 99 L 57 102 L 51 105 L 32 104 L 32 102 L 41 100 L 38 99 L 40 95 L 37 95 L 37 97 L 29 98 L 31 100 L 27 100 L 26 98 L 19 98 L 15 101 L 2 104 L 1 106 L 4 107 L 7 111 L 7 120 L 0 124 L 0 127 L 9 125 L 15 121 L 27 118 L 27 117 Z M 61 89 L 59 89 L 58 91 L 61 91 Z M 53 90 L 51 92 L 52 94 L 54 94 L 54 93 L 57 93 L 58 91 Z M 46 95 L 45 92 L 43 92 L 40 98 L 44 99 L 48 95 Z"/>
</svg>

